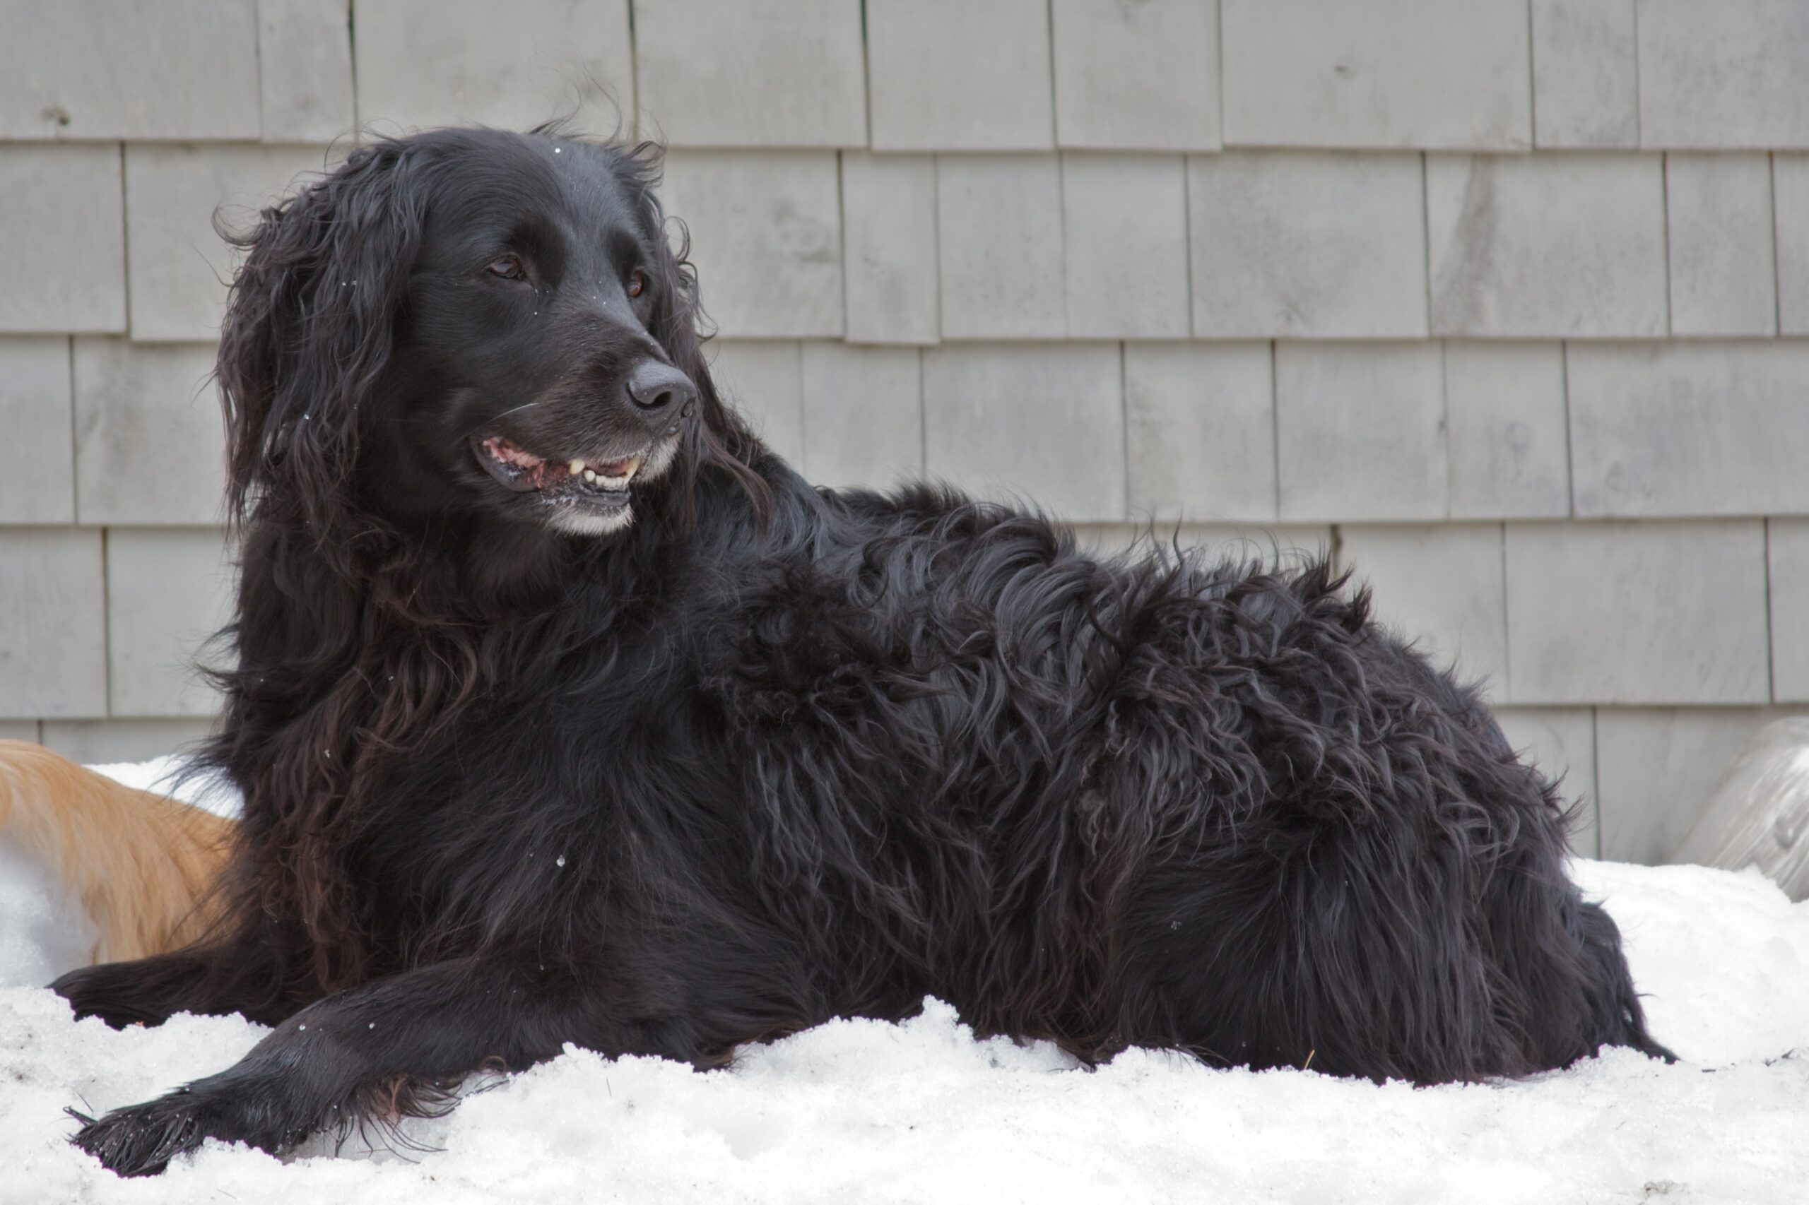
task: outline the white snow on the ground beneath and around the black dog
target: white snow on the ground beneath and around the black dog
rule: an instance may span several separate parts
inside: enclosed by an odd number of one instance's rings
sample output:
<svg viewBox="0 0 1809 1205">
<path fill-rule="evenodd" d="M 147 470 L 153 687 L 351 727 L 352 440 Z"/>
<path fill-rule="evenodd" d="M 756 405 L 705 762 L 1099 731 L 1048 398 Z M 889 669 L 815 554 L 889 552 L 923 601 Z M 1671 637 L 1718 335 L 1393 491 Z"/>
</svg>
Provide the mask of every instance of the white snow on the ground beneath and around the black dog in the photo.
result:
<svg viewBox="0 0 1809 1205">
<path fill-rule="evenodd" d="M 110 773 L 148 785 L 157 769 Z M 1047 1046 L 975 1042 L 930 1002 L 706 1075 L 568 1049 L 409 1124 L 414 1149 L 282 1163 L 212 1143 L 121 1181 L 62 1142 L 63 1105 L 143 1100 L 262 1029 L 177 1017 L 116 1033 L 0 988 L 0 1201 L 1809 1201 L 1809 903 L 1757 872 L 1576 872 L 1621 923 L 1679 1066 L 1606 1051 L 1525 1082 L 1411 1089 L 1132 1051 L 1089 1073 Z M 42 979 L 80 939 L 45 890 L 0 863 L 0 982 Z"/>
</svg>

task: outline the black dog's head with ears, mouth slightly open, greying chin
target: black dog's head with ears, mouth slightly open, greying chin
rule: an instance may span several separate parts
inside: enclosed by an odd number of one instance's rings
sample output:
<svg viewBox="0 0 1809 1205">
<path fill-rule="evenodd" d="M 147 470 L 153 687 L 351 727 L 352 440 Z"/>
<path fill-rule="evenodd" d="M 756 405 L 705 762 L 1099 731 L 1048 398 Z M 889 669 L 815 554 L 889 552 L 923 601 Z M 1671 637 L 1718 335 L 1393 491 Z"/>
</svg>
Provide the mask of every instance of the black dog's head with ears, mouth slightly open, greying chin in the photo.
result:
<svg viewBox="0 0 1809 1205">
<path fill-rule="evenodd" d="M 356 148 L 239 242 L 219 351 L 232 505 L 602 536 L 753 481 L 651 147 L 432 130 Z"/>
</svg>

